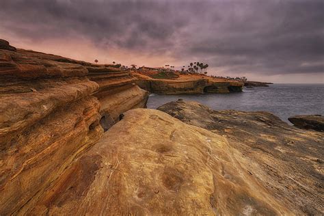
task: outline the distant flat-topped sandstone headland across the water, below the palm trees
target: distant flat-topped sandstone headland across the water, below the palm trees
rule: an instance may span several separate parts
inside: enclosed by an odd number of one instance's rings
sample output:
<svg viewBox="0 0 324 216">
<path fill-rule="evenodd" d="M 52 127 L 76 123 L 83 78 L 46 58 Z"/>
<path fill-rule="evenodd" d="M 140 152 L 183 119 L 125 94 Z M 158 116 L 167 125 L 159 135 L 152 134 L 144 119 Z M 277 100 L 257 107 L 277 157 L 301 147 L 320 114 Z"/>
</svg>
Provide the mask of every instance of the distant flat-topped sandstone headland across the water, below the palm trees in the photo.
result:
<svg viewBox="0 0 324 216">
<path fill-rule="evenodd" d="M 137 85 L 155 94 L 202 94 L 241 92 L 243 83 L 223 81 L 201 75 L 181 75 L 177 79 L 152 79 L 135 74 Z"/>
</svg>

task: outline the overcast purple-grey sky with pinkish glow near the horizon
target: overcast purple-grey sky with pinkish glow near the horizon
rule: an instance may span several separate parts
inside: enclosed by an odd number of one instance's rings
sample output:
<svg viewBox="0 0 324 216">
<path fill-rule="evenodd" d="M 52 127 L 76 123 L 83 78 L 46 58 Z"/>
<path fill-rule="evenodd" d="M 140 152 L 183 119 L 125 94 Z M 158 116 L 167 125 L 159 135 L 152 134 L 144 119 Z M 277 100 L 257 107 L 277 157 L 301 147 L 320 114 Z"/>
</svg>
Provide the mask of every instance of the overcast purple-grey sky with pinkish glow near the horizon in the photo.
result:
<svg viewBox="0 0 324 216">
<path fill-rule="evenodd" d="M 0 38 L 101 64 L 324 83 L 323 0 L 1 0 Z"/>
</svg>

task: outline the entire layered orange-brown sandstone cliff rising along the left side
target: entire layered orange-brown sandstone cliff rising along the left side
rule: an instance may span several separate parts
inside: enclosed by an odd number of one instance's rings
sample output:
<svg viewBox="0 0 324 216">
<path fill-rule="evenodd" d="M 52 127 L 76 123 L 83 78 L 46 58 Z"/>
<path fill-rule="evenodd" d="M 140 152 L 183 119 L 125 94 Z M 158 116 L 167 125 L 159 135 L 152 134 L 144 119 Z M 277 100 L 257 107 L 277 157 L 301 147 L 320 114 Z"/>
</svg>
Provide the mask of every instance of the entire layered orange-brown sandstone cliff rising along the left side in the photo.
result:
<svg viewBox="0 0 324 216">
<path fill-rule="evenodd" d="M 37 200 L 103 135 L 104 116 L 145 106 L 148 93 L 131 75 L 125 81 L 111 78 L 118 71 L 105 72 L 103 87 L 88 79 L 91 67 L 98 66 L 0 47 L 0 215 Z M 111 107 L 96 97 L 108 85 Z"/>
</svg>

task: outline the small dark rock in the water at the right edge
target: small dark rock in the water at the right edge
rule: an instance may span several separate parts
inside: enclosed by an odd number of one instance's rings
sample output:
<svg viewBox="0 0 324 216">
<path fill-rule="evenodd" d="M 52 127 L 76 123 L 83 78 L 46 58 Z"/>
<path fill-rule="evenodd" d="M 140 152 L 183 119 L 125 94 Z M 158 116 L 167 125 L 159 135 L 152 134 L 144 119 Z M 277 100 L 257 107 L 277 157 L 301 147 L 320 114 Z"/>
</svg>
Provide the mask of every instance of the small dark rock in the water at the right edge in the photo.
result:
<svg viewBox="0 0 324 216">
<path fill-rule="evenodd" d="M 312 129 L 315 131 L 324 131 L 324 116 L 293 116 L 288 118 L 299 129 Z"/>
</svg>

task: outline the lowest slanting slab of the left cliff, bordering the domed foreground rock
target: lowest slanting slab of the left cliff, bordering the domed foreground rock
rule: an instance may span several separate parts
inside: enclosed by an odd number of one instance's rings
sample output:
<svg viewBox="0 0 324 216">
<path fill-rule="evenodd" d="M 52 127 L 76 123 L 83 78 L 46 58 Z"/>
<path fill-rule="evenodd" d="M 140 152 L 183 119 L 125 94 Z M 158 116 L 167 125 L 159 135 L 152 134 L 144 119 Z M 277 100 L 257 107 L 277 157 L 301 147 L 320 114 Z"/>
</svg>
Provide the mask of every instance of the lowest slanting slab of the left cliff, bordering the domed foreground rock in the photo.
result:
<svg viewBox="0 0 324 216">
<path fill-rule="evenodd" d="M 99 106 L 89 96 L 59 107 L 1 146 L 0 215 L 18 213 L 37 200 L 77 155 L 98 140 L 103 134 Z"/>
</svg>

